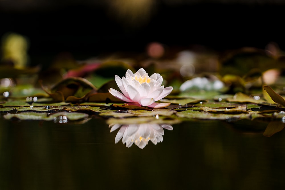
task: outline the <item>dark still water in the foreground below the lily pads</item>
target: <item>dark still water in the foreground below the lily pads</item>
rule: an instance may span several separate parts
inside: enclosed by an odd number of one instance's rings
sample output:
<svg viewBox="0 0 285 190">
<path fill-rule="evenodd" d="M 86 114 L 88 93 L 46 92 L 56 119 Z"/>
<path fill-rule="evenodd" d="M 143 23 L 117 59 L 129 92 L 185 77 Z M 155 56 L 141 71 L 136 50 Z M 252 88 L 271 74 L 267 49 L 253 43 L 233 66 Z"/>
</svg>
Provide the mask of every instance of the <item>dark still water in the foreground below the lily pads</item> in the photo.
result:
<svg viewBox="0 0 285 190">
<path fill-rule="evenodd" d="M 0 189 L 284 189 L 285 131 L 268 122 L 192 121 L 127 148 L 103 119 L 0 118 Z"/>
</svg>

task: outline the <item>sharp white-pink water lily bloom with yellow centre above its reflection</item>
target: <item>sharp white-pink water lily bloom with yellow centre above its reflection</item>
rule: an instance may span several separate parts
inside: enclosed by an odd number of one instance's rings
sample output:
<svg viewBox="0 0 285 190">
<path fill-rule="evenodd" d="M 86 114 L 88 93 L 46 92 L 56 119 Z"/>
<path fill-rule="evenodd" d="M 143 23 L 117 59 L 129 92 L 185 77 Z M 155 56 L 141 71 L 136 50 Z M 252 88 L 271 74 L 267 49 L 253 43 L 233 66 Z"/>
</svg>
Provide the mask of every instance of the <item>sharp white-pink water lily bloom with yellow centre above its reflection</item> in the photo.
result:
<svg viewBox="0 0 285 190">
<path fill-rule="evenodd" d="M 128 69 L 126 77 L 122 79 L 115 75 L 115 81 L 122 93 L 113 88 L 110 88 L 109 92 L 118 99 L 133 104 L 138 103 L 153 108 L 166 107 L 170 103 L 154 103 L 166 97 L 173 89 L 171 86 L 166 88 L 163 85 L 161 86 L 162 80 L 162 76 L 158 73 L 154 73 L 149 77 L 143 68 L 135 74 Z"/>
</svg>

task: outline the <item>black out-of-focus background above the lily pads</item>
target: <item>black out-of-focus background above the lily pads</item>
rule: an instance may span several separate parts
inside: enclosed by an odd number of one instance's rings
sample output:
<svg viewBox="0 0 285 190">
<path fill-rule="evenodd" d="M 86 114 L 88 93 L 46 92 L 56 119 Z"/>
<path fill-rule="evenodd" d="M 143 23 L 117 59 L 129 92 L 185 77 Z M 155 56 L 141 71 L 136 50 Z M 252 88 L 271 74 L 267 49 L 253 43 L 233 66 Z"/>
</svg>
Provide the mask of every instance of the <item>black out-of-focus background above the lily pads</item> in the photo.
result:
<svg viewBox="0 0 285 190">
<path fill-rule="evenodd" d="M 70 52 L 77 59 L 105 52 L 143 52 L 158 41 L 187 48 L 201 44 L 217 51 L 276 42 L 285 49 L 281 1 L 148 1 L 138 9 L 115 1 L 0 1 L 0 36 L 30 40 L 32 64 Z M 117 4 L 115 4 L 115 3 Z M 126 2 L 126 1 L 125 1 Z M 149 3 L 155 2 L 155 3 Z"/>
</svg>

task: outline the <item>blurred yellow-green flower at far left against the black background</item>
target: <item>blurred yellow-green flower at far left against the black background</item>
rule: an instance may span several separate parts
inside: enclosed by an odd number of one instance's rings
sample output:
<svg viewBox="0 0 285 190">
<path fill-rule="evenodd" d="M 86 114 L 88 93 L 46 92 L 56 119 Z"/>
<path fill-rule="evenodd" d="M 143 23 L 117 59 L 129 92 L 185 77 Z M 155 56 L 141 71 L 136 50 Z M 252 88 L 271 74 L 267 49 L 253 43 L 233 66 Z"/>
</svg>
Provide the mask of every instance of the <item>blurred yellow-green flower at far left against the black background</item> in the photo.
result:
<svg viewBox="0 0 285 190">
<path fill-rule="evenodd" d="M 2 37 L 2 60 L 12 61 L 15 68 L 23 69 L 28 62 L 28 40 L 24 36 L 9 33 Z"/>
</svg>

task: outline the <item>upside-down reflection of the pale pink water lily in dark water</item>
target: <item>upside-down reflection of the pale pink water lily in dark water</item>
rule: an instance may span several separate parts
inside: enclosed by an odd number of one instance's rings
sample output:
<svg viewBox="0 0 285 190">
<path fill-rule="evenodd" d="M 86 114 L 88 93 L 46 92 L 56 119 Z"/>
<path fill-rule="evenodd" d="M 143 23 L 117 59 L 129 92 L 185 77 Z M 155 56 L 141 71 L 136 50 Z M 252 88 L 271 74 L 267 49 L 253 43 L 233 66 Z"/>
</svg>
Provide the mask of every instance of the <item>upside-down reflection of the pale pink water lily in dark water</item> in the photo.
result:
<svg viewBox="0 0 285 190">
<path fill-rule="evenodd" d="M 123 138 L 123 144 L 129 148 L 135 143 L 139 148 L 143 149 L 149 142 L 157 144 L 162 142 L 164 130 L 173 130 L 170 124 L 110 124 L 110 132 L 120 128 L 116 137 L 115 143 L 118 143 Z"/>
</svg>

